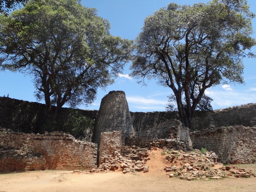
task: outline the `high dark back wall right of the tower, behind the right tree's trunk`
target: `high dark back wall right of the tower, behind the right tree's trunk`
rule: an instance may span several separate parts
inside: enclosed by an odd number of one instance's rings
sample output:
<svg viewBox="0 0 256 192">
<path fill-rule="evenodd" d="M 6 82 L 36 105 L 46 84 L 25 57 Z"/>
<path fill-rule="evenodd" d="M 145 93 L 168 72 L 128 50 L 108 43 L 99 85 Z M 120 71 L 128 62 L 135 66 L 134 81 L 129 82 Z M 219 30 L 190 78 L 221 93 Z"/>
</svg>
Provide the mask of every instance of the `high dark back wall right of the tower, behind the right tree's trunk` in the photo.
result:
<svg viewBox="0 0 256 192">
<path fill-rule="evenodd" d="M 177 112 L 131 112 L 134 130 L 156 127 L 161 122 L 177 119 Z M 210 112 L 196 111 L 193 118 L 192 130 L 202 130 L 214 127 L 243 125 L 256 125 L 256 104 L 234 106 Z"/>
</svg>

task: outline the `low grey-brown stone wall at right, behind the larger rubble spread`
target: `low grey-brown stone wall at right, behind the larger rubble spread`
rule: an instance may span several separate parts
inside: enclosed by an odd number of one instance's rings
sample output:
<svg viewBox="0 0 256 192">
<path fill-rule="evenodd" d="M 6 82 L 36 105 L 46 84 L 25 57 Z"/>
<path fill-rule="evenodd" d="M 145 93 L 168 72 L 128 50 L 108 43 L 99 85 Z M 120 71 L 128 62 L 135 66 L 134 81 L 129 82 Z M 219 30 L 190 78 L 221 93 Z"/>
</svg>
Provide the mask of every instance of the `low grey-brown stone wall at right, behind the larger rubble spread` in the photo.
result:
<svg viewBox="0 0 256 192">
<path fill-rule="evenodd" d="M 222 163 L 256 162 L 256 126 L 199 130 L 191 132 L 190 137 L 194 148 L 214 151 Z"/>
</svg>

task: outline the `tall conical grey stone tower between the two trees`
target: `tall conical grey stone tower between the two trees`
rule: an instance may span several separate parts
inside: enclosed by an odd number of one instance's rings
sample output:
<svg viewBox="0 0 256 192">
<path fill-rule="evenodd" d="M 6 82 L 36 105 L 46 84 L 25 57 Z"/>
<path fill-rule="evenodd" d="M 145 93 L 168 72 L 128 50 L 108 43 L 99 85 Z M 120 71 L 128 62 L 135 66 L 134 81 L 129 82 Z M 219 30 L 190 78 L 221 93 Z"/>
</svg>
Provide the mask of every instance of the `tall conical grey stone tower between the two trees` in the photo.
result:
<svg viewBox="0 0 256 192">
<path fill-rule="evenodd" d="M 102 98 L 92 142 L 99 143 L 100 134 L 109 131 L 120 131 L 123 138 L 133 134 L 131 115 L 123 91 L 110 91 Z"/>
</svg>

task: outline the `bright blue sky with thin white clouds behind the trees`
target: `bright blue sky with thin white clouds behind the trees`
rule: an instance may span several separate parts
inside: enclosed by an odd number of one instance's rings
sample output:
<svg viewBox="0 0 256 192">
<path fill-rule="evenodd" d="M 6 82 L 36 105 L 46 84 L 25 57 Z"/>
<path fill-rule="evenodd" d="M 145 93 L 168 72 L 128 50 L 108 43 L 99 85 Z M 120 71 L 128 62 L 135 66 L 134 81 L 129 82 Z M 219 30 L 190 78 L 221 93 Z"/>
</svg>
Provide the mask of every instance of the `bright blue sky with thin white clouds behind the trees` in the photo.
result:
<svg viewBox="0 0 256 192">
<path fill-rule="evenodd" d="M 83 6 L 96 8 L 98 16 L 110 22 L 110 33 L 134 40 L 141 32 L 144 19 L 169 3 L 189 4 L 208 2 L 206 0 L 81 0 Z M 248 0 L 250 10 L 256 13 L 256 1 Z M 256 31 L 256 18 L 252 20 L 254 31 Z M 253 34 L 256 38 L 256 34 Z M 256 47 L 252 48 L 256 52 Z M 256 103 L 256 58 L 244 58 L 244 82 L 242 85 L 220 84 L 206 90 L 210 96 L 213 109 L 221 109 L 232 106 L 239 106 L 248 103 Z M 105 90 L 98 90 L 97 99 L 90 106 L 78 106 L 80 109 L 98 110 L 101 99 L 112 90 L 122 90 L 130 111 L 132 112 L 153 112 L 165 111 L 168 102 L 167 96 L 172 90 L 162 87 L 154 80 L 150 80 L 147 86 L 138 84 L 129 76 L 131 63 L 126 64 L 123 74 L 115 79 L 114 84 Z M 0 96 L 9 95 L 10 98 L 38 102 L 34 97 L 34 85 L 30 76 L 24 76 L 18 72 L 0 71 Z M 44 101 L 39 101 L 44 103 Z M 66 106 L 68 107 L 68 106 Z"/>
</svg>

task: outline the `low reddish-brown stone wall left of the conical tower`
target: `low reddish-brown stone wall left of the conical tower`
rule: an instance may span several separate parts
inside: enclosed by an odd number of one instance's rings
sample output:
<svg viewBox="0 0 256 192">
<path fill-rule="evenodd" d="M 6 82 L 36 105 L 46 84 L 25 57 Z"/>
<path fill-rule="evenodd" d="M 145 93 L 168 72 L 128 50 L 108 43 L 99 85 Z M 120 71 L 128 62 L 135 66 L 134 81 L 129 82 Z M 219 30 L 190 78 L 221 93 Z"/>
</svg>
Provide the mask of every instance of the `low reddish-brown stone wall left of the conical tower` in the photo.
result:
<svg viewBox="0 0 256 192">
<path fill-rule="evenodd" d="M 97 144 L 70 134 L 26 134 L 0 128 L 0 172 L 22 170 L 91 170 L 96 168 Z"/>
</svg>

